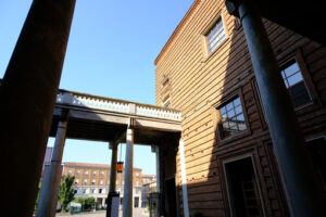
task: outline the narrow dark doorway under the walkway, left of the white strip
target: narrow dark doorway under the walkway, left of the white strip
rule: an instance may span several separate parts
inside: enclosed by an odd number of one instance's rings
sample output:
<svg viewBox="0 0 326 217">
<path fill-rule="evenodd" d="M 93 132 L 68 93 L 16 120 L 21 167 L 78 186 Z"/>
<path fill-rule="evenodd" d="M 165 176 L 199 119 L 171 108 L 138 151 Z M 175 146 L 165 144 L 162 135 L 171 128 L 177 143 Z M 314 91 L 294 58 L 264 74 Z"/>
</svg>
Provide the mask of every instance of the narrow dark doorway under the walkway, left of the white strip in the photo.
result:
<svg viewBox="0 0 326 217">
<path fill-rule="evenodd" d="M 166 216 L 177 216 L 175 178 L 165 179 L 165 208 Z"/>
</svg>

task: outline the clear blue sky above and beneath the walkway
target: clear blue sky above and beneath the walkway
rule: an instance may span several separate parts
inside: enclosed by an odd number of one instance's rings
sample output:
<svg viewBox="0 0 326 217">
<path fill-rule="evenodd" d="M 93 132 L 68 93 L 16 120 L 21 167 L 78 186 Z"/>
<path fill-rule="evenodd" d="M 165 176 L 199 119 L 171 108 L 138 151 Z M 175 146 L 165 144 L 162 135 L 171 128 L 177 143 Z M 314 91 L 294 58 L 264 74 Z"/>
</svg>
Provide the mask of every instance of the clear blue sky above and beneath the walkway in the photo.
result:
<svg viewBox="0 0 326 217">
<path fill-rule="evenodd" d="M 60 88 L 154 104 L 153 62 L 191 3 L 77 0 Z M 0 1 L 0 77 L 30 4 L 32 0 Z M 50 139 L 48 145 L 53 142 Z M 110 164 L 111 151 L 108 143 L 67 140 L 63 162 L 67 161 Z M 135 146 L 134 165 L 145 174 L 155 173 L 149 146 Z"/>
</svg>

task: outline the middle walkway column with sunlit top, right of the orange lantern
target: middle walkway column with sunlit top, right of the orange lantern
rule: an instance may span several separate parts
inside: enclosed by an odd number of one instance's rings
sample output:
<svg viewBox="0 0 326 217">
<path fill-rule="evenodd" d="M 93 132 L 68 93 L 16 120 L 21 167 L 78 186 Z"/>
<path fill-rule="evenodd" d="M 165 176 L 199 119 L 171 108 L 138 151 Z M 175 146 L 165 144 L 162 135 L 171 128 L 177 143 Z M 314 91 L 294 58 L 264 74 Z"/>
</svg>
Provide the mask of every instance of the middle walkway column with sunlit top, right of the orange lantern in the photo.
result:
<svg viewBox="0 0 326 217">
<path fill-rule="evenodd" d="M 133 217 L 134 129 L 128 127 L 125 158 L 123 217 Z"/>
</svg>

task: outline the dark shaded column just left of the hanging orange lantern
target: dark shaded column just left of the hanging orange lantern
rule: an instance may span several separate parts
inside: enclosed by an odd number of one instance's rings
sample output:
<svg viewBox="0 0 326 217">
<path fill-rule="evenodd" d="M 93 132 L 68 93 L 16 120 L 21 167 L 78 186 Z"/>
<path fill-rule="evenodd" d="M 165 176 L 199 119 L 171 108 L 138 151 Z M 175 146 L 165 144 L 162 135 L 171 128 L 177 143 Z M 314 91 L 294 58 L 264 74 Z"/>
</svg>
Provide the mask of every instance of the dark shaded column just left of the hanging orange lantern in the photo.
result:
<svg viewBox="0 0 326 217">
<path fill-rule="evenodd" d="M 117 164 L 117 143 L 110 142 L 110 149 L 112 150 L 111 157 L 111 171 L 110 171 L 110 186 L 108 194 L 108 204 L 106 204 L 106 217 L 111 217 L 111 207 L 112 207 L 112 197 L 117 196 L 118 194 L 115 191 L 116 187 L 116 164 Z"/>
</svg>

